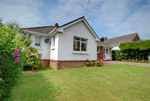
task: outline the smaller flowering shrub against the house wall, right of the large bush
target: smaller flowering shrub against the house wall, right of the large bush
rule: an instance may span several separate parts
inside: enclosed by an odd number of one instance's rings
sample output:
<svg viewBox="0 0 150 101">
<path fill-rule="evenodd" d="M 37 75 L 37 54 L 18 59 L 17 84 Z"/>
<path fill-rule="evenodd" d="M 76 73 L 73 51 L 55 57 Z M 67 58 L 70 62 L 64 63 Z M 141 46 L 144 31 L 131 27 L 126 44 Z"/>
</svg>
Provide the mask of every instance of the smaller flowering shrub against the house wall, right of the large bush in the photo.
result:
<svg viewBox="0 0 150 101">
<path fill-rule="evenodd" d="M 34 68 L 40 68 L 41 67 L 41 59 L 39 58 L 41 54 L 38 53 L 38 50 L 33 47 L 28 48 L 27 52 L 27 65 L 34 70 Z"/>
</svg>

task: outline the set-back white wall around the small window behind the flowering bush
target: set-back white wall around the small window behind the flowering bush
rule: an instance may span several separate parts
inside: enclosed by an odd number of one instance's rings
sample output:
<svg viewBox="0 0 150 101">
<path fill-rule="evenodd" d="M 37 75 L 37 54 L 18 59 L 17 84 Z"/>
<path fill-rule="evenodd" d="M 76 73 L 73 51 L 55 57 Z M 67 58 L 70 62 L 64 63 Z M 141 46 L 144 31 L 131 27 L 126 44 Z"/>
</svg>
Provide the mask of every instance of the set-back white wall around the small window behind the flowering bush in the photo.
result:
<svg viewBox="0 0 150 101">
<path fill-rule="evenodd" d="M 44 40 L 47 37 L 41 37 L 41 47 L 35 46 L 35 37 L 36 37 L 35 35 L 31 35 L 32 43 L 30 46 L 36 48 L 38 52 L 42 54 L 41 59 L 49 59 L 50 58 L 50 43 L 44 42 Z M 37 37 L 40 37 L 40 36 L 37 36 Z"/>
</svg>

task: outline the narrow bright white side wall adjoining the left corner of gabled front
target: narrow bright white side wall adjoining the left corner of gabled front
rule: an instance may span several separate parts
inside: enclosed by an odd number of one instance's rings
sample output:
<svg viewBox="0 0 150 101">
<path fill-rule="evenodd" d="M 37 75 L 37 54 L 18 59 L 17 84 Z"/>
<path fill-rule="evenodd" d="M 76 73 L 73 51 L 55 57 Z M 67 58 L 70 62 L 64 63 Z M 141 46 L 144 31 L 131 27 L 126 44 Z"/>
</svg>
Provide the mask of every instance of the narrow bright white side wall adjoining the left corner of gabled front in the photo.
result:
<svg viewBox="0 0 150 101">
<path fill-rule="evenodd" d="M 53 47 L 53 41 L 51 37 L 51 45 L 50 45 L 50 59 L 51 60 L 58 60 L 58 39 L 59 34 L 55 35 L 55 47 Z"/>
</svg>

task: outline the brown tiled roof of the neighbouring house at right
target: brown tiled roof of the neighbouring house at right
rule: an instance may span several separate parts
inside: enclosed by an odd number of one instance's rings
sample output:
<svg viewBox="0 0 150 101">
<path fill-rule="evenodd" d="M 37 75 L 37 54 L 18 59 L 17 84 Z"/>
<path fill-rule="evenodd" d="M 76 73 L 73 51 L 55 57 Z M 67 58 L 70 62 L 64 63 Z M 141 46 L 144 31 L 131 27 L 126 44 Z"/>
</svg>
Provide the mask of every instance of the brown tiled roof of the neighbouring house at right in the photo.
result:
<svg viewBox="0 0 150 101">
<path fill-rule="evenodd" d="M 129 42 L 129 41 L 133 41 L 133 39 L 136 37 L 136 35 L 138 35 L 137 32 L 132 33 L 132 34 L 128 34 L 128 35 L 115 37 L 115 38 L 110 38 L 108 40 L 105 40 L 102 43 L 105 44 L 105 45 L 110 45 L 110 44 L 118 44 L 120 42 Z"/>
</svg>

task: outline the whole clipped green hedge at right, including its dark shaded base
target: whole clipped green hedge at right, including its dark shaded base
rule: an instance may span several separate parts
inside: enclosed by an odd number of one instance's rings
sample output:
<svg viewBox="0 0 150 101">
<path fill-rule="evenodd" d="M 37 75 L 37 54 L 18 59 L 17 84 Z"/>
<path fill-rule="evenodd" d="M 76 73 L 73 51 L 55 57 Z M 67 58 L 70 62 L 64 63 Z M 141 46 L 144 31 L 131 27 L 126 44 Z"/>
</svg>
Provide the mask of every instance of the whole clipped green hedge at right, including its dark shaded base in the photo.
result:
<svg viewBox="0 0 150 101">
<path fill-rule="evenodd" d="M 112 60 L 127 62 L 148 62 L 150 55 L 150 40 L 119 43 L 121 50 L 112 51 Z"/>
</svg>

